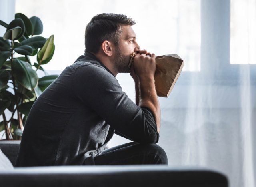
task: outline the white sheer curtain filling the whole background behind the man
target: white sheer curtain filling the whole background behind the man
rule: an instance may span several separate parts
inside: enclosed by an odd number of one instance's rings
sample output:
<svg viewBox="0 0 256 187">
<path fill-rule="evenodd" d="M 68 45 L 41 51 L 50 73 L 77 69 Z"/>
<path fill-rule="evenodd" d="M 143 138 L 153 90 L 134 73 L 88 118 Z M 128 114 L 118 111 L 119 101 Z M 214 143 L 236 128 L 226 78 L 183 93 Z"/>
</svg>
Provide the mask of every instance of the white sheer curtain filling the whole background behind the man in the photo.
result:
<svg viewBox="0 0 256 187">
<path fill-rule="evenodd" d="M 82 54 L 85 24 L 102 12 L 134 18 L 142 48 L 184 58 L 170 96 L 159 99 L 158 144 L 170 166 L 216 169 L 228 176 L 230 187 L 256 184 L 255 7 L 255 0 L 16 0 L 16 12 L 40 17 L 43 36 L 55 35 L 50 70 L 60 71 Z M 134 100 L 129 76 L 117 78 Z M 125 142 L 114 136 L 109 146 Z"/>
</svg>

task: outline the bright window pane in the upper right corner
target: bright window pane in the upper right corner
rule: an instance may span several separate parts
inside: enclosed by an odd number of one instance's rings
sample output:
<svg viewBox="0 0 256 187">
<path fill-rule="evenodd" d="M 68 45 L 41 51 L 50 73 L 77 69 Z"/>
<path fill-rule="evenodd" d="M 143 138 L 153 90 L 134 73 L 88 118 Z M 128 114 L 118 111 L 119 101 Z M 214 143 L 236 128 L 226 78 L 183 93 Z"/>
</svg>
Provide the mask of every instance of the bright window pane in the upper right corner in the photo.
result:
<svg viewBox="0 0 256 187">
<path fill-rule="evenodd" d="M 230 64 L 256 64 L 256 1 L 230 1 Z"/>
</svg>

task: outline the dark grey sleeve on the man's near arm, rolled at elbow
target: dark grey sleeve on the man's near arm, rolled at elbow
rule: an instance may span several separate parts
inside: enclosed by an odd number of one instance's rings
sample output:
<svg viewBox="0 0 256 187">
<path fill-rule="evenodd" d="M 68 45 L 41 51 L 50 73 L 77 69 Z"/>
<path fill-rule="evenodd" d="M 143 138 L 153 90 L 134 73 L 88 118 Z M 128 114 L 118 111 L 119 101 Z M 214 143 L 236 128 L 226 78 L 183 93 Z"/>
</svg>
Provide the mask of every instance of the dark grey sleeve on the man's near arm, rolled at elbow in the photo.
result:
<svg viewBox="0 0 256 187">
<path fill-rule="evenodd" d="M 158 142 L 159 133 L 150 109 L 133 103 L 118 80 L 104 68 L 80 66 L 72 83 L 75 97 L 124 137 L 138 143 Z"/>
</svg>

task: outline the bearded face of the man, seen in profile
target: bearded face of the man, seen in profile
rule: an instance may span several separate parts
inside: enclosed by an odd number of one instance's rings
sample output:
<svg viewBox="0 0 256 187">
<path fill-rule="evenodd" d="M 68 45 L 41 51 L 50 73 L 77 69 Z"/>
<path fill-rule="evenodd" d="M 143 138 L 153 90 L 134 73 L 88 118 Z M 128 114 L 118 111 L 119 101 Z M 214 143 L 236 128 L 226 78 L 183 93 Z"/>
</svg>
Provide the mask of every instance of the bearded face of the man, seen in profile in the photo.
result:
<svg viewBox="0 0 256 187">
<path fill-rule="evenodd" d="M 132 52 L 140 50 L 136 42 L 136 34 L 131 26 L 122 26 L 119 43 L 115 47 L 114 63 L 119 73 L 130 73 L 128 64 Z"/>
</svg>

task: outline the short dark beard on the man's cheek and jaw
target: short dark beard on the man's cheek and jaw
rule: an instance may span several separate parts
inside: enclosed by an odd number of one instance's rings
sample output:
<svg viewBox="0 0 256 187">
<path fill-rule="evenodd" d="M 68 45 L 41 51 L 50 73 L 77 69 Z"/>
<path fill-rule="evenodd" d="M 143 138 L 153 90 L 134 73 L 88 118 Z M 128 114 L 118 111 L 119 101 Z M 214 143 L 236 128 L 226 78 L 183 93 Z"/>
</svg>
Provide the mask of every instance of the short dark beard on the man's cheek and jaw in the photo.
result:
<svg viewBox="0 0 256 187">
<path fill-rule="evenodd" d="M 120 49 L 116 48 L 116 55 L 115 55 L 115 65 L 118 70 L 118 73 L 130 73 L 130 68 L 128 68 L 128 64 L 130 62 L 130 55 L 124 55 L 120 51 Z"/>
</svg>

